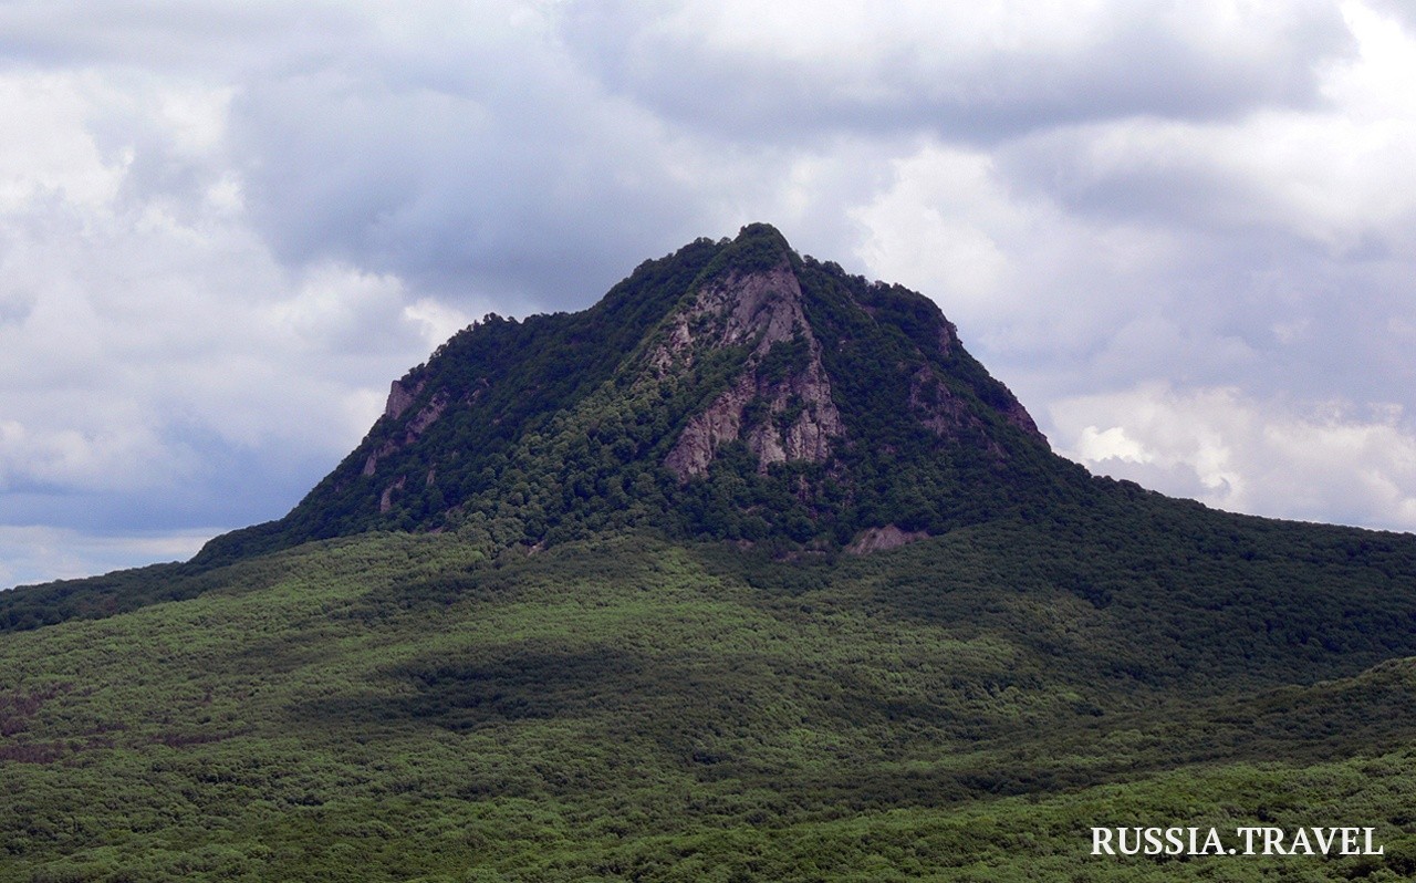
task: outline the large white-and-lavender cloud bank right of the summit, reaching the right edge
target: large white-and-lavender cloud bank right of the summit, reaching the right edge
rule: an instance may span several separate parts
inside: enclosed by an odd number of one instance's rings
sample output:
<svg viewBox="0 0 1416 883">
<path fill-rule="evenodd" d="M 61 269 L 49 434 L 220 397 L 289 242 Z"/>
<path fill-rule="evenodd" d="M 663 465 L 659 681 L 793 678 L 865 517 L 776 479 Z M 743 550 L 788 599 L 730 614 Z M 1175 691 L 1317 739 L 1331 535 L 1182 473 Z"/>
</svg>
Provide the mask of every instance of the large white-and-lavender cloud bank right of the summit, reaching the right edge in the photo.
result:
<svg viewBox="0 0 1416 883">
<path fill-rule="evenodd" d="M 1038 411 L 1146 380 L 1416 407 L 1399 332 L 1416 325 L 1416 43 L 1342 11 L 1357 51 L 1311 60 L 1308 106 L 898 150 L 851 208 L 858 257 L 939 300 Z"/>
</svg>

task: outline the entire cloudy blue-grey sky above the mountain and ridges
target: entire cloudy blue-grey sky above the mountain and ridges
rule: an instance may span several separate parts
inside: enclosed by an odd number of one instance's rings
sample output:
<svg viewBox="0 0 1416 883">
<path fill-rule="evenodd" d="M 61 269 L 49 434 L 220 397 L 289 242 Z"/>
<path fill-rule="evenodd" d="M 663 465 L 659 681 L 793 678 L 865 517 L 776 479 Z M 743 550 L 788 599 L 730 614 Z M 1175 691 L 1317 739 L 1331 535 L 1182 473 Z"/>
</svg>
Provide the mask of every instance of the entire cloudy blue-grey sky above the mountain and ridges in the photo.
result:
<svg viewBox="0 0 1416 883">
<path fill-rule="evenodd" d="M 283 514 L 489 310 L 776 224 L 1054 446 L 1416 530 L 1402 0 L 0 3 L 0 587 Z"/>
</svg>

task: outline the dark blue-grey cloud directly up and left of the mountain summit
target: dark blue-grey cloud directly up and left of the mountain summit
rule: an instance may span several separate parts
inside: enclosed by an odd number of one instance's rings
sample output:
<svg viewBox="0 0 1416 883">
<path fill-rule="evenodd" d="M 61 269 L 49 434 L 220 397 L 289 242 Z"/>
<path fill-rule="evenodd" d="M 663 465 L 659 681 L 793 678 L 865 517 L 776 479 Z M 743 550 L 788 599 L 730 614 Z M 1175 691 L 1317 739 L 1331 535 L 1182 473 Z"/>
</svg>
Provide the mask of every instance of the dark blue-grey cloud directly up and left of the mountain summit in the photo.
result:
<svg viewBox="0 0 1416 883">
<path fill-rule="evenodd" d="M 253 217 L 278 254 L 354 261 L 450 298 L 564 309 L 609 288 L 632 255 L 697 235 L 701 210 L 667 174 L 650 120 L 590 115 L 592 101 L 556 84 L 489 111 L 484 92 L 507 84 L 483 85 L 388 94 L 313 78 L 248 89 L 232 126 Z"/>
</svg>

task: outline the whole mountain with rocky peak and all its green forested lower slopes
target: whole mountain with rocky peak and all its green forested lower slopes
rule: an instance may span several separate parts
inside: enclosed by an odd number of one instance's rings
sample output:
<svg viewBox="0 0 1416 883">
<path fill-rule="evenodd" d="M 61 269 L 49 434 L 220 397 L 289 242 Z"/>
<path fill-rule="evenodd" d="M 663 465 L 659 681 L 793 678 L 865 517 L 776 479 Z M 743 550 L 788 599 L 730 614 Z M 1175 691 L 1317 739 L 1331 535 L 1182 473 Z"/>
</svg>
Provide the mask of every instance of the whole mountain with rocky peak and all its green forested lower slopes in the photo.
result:
<svg viewBox="0 0 1416 883">
<path fill-rule="evenodd" d="M 0 631 L 0 882 L 1416 873 L 1416 537 L 1090 476 L 766 225 L 489 316 L 286 517 Z M 1151 825 L 1383 852 L 1090 855 Z"/>
</svg>

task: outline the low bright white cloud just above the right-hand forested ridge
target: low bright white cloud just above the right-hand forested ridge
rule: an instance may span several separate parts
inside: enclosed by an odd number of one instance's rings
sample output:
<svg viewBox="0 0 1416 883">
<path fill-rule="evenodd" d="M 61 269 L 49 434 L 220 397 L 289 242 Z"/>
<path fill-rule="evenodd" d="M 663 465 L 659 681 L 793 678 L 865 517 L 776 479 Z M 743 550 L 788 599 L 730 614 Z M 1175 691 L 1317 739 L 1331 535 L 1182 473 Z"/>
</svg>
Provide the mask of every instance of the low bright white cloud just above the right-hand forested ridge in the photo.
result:
<svg viewBox="0 0 1416 883">
<path fill-rule="evenodd" d="M 1416 529 L 1416 428 L 1399 405 L 1358 410 L 1163 384 L 1051 408 L 1083 465 L 1222 509 Z"/>
</svg>

